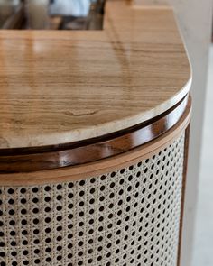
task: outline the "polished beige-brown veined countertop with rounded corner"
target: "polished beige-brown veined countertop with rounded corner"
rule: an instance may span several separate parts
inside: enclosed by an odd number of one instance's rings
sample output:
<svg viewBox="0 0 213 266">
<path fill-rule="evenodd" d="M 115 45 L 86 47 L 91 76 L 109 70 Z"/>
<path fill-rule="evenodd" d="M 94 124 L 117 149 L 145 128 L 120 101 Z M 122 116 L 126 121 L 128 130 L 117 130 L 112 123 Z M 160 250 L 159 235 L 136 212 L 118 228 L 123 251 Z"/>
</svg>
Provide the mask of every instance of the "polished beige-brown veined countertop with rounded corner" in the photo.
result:
<svg viewBox="0 0 213 266">
<path fill-rule="evenodd" d="M 108 1 L 103 31 L 0 31 L 0 149 L 76 142 L 161 115 L 190 90 L 170 7 Z"/>
</svg>

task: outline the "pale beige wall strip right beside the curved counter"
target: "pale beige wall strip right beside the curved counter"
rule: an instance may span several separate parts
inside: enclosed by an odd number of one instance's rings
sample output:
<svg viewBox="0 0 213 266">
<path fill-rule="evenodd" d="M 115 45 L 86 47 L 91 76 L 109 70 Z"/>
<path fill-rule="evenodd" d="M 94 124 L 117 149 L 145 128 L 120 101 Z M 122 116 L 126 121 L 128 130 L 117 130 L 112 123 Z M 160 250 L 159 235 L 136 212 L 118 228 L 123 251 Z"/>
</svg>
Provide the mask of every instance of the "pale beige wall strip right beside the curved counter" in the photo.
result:
<svg viewBox="0 0 213 266">
<path fill-rule="evenodd" d="M 171 5 L 174 6 L 175 13 L 177 14 L 193 69 L 193 83 L 191 87 L 193 116 L 190 130 L 190 160 L 181 251 L 181 266 L 190 266 L 199 186 L 199 164 L 207 85 L 208 50 L 211 35 L 212 0 L 171 0 Z"/>
</svg>

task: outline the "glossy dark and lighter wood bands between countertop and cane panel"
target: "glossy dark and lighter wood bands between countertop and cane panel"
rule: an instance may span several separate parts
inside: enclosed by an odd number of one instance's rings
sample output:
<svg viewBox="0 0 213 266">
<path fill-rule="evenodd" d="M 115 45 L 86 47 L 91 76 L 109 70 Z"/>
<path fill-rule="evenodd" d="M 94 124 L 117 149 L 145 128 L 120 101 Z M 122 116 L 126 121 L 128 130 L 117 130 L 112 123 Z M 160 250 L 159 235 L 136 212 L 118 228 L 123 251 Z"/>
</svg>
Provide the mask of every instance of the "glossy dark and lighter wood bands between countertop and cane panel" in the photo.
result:
<svg viewBox="0 0 213 266">
<path fill-rule="evenodd" d="M 170 144 L 190 124 L 191 98 L 151 121 L 89 142 L 73 142 L 55 151 L 0 154 L 0 185 L 35 185 L 87 179 L 145 159 Z M 51 147 L 52 149 L 52 147 Z"/>
</svg>

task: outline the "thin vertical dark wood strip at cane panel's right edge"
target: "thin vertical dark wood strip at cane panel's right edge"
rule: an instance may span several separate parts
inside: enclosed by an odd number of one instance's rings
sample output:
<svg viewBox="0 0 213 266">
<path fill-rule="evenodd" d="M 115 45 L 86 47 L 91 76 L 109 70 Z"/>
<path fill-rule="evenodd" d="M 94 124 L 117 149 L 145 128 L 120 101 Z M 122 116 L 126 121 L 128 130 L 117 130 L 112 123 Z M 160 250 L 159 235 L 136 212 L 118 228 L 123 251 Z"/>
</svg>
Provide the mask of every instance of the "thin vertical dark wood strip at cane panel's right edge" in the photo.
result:
<svg viewBox="0 0 213 266">
<path fill-rule="evenodd" d="M 183 161 L 182 191 L 181 191 L 181 218 L 180 218 L 180 229 L 179 229 L 177 266 L 181 266 L 181 243 L 182 243 L 182 231 L 183 231 L 182 227 L 183 227 L 184 203 L 185 203 L 185 192 L 186 192 L 186 182 L 187 182 L 189 145 L 190 145 L 190 124 L 185 130 L 184 161 Z"/>
</svg>

